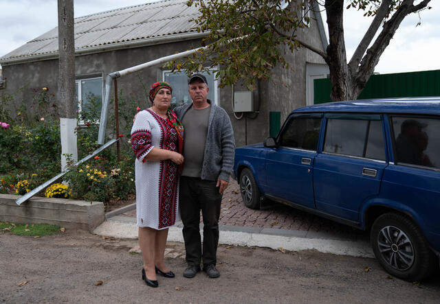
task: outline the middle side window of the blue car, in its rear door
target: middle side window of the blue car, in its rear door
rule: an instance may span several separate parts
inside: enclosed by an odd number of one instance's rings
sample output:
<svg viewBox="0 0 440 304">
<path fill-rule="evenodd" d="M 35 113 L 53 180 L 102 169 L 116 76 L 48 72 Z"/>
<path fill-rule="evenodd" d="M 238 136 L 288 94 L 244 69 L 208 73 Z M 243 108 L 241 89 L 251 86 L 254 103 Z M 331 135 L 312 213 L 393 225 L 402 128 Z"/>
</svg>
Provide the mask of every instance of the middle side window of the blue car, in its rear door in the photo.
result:
<svg viewBox="0 0 440 304">
<path fill-rule="evenodd" d="M 327 119 L 323 151 L 384 161 L 382 121 Z"/>
</svg>

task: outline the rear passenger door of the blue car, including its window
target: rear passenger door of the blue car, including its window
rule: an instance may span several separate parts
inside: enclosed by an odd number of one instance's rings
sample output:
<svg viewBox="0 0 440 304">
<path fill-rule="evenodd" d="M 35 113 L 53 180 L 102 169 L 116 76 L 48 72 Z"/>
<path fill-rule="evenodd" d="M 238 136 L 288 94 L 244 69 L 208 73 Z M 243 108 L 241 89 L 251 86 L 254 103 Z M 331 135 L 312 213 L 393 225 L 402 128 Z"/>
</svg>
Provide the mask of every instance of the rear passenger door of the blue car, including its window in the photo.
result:
<svg viewBox="0 0 440 304">
<path fill-rule="evenodd" d="M 315 159 L 320 211 L 358 222 L 362 202 L 379 194 L 386 167 L 382 115 L 327 113 L 322 153 Z"/>
</svg>

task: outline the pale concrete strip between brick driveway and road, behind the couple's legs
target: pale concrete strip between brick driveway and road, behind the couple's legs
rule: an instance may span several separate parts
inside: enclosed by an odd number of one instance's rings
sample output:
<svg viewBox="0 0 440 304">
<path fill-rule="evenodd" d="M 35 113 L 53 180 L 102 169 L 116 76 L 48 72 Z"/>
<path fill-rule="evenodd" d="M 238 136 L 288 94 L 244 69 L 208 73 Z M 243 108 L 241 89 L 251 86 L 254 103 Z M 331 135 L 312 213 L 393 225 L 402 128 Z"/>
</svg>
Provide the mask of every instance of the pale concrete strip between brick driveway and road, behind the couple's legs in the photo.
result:
<svg viewBox="0 0 440 304">
<path fill-rule="evenodd" d="M 181 222 L 168 230 L 168 241 L 184 242 L 181 234 Z M 203 226 L 203 225 L 201 225 Z M 285 229 L 265 229 L 259 227 L 220 226 L 219 243 L 237 246 L 259 246 L 283 248 L 298 251 L 315 249 L 322 253 L 350 255 L 353 257 L 374 257 L 366 239 L 332 236 L 329 233 L 311 233 L 309 231 L 290 231 Z M 94 231 L 97 235 L 119 238 L 137 238 L 135 218 L 113 216 L 103 222 Z M 202 235 L 203 237 L 203 235 Z"/>
</svg>

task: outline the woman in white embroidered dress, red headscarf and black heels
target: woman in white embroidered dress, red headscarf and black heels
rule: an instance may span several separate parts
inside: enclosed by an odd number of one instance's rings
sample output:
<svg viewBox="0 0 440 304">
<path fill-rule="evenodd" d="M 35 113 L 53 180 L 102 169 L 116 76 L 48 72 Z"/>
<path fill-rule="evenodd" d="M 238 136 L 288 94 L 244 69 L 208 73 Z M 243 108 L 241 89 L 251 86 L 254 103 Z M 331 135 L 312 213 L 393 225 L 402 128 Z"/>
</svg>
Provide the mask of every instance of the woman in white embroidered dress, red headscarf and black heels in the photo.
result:
<svg viewBox="0 0 440 304">
<path fill-rule="evenodd" d="M 137 113 L 131 128 L 135 152 L 136 218 L 144 258 L 142 279 L 157 287 L 156 274 L 175 277 L 164 264 L 168 227 L 179 220 L 179 165 L 184 128 L 169 110 L 173 89 L 166 82 L 151 86 L 153 106 Z"/>
</svg>

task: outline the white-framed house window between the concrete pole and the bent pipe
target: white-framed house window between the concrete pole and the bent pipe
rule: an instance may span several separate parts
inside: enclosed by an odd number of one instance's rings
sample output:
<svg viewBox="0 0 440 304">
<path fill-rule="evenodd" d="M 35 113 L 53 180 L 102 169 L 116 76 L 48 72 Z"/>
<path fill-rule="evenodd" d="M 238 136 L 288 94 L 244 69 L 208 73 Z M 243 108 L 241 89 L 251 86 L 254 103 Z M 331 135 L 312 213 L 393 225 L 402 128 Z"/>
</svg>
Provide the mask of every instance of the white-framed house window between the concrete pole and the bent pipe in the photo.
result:
<svg viewBox="0 0 440 304">
<path fill-rule="evenodd" d="M 76 80 L 75 93 L 80 124 L 85 120 L 98 122 L 102 106 L 102 77 Z"/>
</svg>

